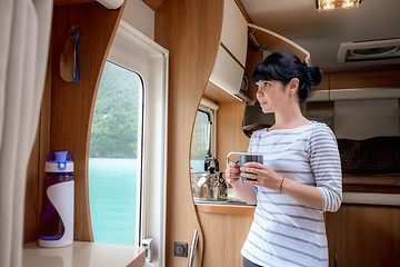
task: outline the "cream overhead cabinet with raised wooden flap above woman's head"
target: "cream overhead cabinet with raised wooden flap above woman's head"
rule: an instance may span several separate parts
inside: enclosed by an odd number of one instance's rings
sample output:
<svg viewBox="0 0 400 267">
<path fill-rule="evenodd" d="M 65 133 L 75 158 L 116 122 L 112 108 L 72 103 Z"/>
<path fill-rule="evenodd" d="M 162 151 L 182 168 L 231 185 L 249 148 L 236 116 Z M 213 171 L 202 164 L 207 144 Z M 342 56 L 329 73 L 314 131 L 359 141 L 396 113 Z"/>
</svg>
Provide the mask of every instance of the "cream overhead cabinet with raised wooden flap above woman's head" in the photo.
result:
<svg viewBox="0 0 400 267">
<path fill-rule="evenodd" d="M 249 38 L 256 49 L 268 52 L 292 52 L 302 61 L 310 63 L 310 53 L 307 50 L 270 30 L 249 24 L 236 1 L 224 0 L 221 38 L 204 92 L 207 97 L 221 101 L 252 101 L 246 92 L 248 80 L 244 77 Z M 221 92 L 216 92 L 221 89 L 226 92 L 224 97 L 221 97 Z"/>
</svg>

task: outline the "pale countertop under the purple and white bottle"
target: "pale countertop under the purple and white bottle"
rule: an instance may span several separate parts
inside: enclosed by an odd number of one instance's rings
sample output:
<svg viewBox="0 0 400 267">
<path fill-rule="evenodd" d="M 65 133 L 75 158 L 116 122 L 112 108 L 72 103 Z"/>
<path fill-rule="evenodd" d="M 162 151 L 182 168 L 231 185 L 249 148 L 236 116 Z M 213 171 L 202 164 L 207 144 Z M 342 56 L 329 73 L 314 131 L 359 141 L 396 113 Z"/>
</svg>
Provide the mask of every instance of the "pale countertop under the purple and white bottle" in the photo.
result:
<svg viewBox="0 0 400 267">
<path fill-rule="evenodd" d="M 124 246 L 74 241 L 61 248 L 41 248 L 37 241 L 23 246 L 23 267 L 88 267 L 129 266 L 146 264 L 146 250 L 139 246 Z"/>
</svg>

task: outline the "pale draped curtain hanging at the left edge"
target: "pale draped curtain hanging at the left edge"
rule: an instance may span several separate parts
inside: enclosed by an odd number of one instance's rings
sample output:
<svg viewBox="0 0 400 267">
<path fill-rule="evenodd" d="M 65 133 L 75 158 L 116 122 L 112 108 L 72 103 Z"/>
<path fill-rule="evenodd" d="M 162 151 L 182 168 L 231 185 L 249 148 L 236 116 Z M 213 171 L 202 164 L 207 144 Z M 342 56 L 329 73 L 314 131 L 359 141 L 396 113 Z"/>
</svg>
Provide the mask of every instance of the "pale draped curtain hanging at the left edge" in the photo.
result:
<svg viewBox="0 0 400 267">
<path fill-rule="evenodd" d="M 0 266 L 21 266 L 29 156 L 37 134 L 51 0 L 0 1 Z"/>
</svg>

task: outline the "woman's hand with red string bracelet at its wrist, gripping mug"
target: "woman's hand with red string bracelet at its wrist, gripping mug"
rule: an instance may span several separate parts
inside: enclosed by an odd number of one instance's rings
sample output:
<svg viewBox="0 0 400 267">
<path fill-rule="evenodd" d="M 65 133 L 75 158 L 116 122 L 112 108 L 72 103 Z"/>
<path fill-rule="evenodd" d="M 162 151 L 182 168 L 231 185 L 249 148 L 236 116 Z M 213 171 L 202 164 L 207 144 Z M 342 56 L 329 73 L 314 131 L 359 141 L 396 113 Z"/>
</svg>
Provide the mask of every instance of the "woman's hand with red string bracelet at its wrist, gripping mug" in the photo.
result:
<svg viewBox="0 0 400 267">
<path fill-rule="evenodd" d="M 273 169 L 259 164 L 259 162 L 247 162 L 244 167 L 240 168 L 241 176 L 257 180 L 244 180 L 244 184 L 267 187 L 269 189 L 279 191 L 283 177 L 277 174 Z M 244 174 L 250 172 L 250 174 Z"/>
</svg>

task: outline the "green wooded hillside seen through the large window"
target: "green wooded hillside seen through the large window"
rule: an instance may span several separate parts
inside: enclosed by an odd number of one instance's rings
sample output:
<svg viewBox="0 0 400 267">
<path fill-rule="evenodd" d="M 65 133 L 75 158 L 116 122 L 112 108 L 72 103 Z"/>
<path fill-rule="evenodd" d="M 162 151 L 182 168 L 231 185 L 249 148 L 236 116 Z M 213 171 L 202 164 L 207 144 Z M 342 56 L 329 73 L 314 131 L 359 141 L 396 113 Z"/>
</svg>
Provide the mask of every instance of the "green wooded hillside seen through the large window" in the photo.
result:
<svg viewBox="0 0 400 267">
<path fill-rule="evenodd" d="M 107 61 L 90 136 L 91 158 L 137 158 L 142 82 L 131 70 Z"/>
</svg>

